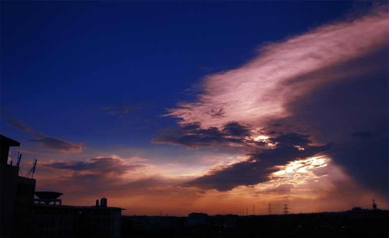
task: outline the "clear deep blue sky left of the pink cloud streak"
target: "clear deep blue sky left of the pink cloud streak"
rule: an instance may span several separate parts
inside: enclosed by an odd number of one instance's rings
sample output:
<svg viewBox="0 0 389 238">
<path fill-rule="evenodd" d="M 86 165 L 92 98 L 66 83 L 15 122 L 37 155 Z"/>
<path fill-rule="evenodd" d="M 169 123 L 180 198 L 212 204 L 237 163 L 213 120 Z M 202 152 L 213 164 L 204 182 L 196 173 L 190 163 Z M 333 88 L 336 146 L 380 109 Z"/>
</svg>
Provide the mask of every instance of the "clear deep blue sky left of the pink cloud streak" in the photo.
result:
<svg viewBox="0 0 389 238">
<path fill-rule="evenodd" d="M 338 19 L 352 2 L 4 1 L 2 6 L 1 104 L 15 110 L 14 117 L 45 134 L 84 143 L 104 137 L 112 144 L 145 144 L 156 127 L 174 124 L 159 116 L 193 99 L 190 90 L 202 77 L 243 65 L 261 44 Z M 101 110 L 123 106 L 133 108 L 131 114 L 109 117 Z M 118 121 L 120 116 L 126 117 Z"/>
</svg>

